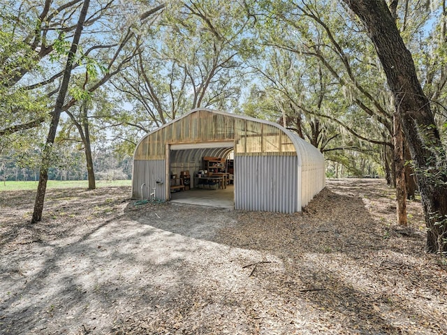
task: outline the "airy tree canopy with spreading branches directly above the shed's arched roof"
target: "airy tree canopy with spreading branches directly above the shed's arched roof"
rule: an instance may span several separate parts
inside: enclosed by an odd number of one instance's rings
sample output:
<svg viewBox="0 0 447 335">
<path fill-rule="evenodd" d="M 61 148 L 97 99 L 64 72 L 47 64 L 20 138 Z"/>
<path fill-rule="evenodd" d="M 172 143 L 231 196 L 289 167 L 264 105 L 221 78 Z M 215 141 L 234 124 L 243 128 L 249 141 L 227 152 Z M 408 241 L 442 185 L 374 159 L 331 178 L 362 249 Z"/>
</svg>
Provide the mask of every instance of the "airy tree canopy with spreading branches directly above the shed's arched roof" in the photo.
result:
<svg viewBox="0 0 447 335">
<path fill-rule="evenodd" d="M 115 121 L 148 132 L 196 107 L 233 110 L 245 82 L 241 50 L 250 21 L 230 1 L 168 3 L 114 81 L 133 106 Z"/>
</svg>

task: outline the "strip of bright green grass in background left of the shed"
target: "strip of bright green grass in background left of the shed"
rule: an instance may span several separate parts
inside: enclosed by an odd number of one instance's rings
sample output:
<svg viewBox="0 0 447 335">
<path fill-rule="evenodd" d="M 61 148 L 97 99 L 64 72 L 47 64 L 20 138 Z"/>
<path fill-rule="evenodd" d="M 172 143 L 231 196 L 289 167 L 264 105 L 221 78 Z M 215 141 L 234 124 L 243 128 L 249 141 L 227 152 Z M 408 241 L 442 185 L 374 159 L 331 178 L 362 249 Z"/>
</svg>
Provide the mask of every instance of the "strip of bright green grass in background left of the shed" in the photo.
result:
<svg viewBox="0 0 447 335">
<path fill-rule="evenodd" d="M 131 186 L 131 180 L 97 180 L 96 187 L 105 186 Z M 18 191 L 18 190 L 37 190 L 38 181 L 6 181 L 0 182 L 0 192 L 1 191 Z M 89 181 L 87 180 L 49 180 L 47 183 L 47 188 L 74 188 L 82 187 L 88 188 Z"/>
</svg>

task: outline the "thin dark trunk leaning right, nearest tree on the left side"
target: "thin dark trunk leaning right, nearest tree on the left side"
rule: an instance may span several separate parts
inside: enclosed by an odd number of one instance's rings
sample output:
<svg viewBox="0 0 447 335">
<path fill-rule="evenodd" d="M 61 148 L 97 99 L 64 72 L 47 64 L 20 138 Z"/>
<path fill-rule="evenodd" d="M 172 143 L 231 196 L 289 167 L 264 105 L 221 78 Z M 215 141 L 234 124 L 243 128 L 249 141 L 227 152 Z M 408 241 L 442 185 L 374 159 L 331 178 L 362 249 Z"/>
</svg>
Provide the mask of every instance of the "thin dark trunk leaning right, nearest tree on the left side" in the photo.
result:
<svg viewBox="0 0 447 335">
<path fill-rule="evenodd" d="M 43 149 L 42 165 L 39 172 L 39 184 L 37 186 L 36 202 L 34 203 L 34 212 L 33 217 L 31 218 L 31 223 L 36 223 L 42 220 L 43 202 L 45 200 L 45 192 L 47 190 L 48 168 L 50 167 L 51 162 L 52 147 L 54 144 L 54 138 L 56 137 L 62 106 L 64 105 L 65 96 L 68 91 L 68 82 L 70 82 L 73 61 L 75 59 L 76 51 L 78 50 L 78 44 L 82 34 L 85 17 L 87 16 L 87 11 L 89 9 L 89 3 L 90 0 L 84 0 L 81 13 L 79 15 L 78 25 L 73 36 L 73 42 L 71 43 L 70 51 L 68 52 L 67 63 L 64 69 L 64 77 L 62 79 L 61 88 L 59 89 L 59 95 L 57 96 L 54 113 L 52 114 L 50 131 L 48 131 L 47 135 L 47 142 L 45 143 L 45 148 Z"/>
</svg>

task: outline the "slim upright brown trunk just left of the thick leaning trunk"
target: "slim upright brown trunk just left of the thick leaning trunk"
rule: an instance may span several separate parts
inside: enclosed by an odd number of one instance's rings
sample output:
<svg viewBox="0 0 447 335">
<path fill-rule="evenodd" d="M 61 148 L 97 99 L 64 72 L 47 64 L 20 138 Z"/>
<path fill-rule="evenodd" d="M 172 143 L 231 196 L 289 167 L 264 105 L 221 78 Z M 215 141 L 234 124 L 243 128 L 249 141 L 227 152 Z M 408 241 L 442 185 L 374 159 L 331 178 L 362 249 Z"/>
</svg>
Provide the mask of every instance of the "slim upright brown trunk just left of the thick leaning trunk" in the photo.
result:
<svg viewBox="0 0 447 335">
<path fill-rule="evenodd" d="M 396 176 L 396 200 L 397 200 L 397 223 L 407 225 L 406 222 L 406 182 L 404 169 L 404 134 L 399 113 L 393 116 L 394 123 L 394 166 Z"/>
</svg>

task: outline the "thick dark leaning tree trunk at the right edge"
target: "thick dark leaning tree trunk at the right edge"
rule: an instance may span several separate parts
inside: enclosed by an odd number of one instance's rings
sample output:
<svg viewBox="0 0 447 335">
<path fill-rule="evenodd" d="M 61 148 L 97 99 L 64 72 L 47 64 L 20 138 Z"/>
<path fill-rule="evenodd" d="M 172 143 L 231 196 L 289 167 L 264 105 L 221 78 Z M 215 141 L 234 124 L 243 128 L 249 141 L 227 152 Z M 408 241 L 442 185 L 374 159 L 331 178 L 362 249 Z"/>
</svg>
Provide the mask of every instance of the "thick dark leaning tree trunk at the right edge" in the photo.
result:
<svg viewBox="0 0 447 335">
<path fill-rule="evenodd" d="M 385 0 L 343 1 L 365 24 L 394 94 L 395 109 L 402 119 L 423 204 L 427 251 L 443 251 L 447 231 L 447 177 L 443 170 L 446 156 L 430 102 L 418 81 L 413 58 Z M 435 180 L 437 176 L 441 176 L 439 180 Z"/>
</svg>

